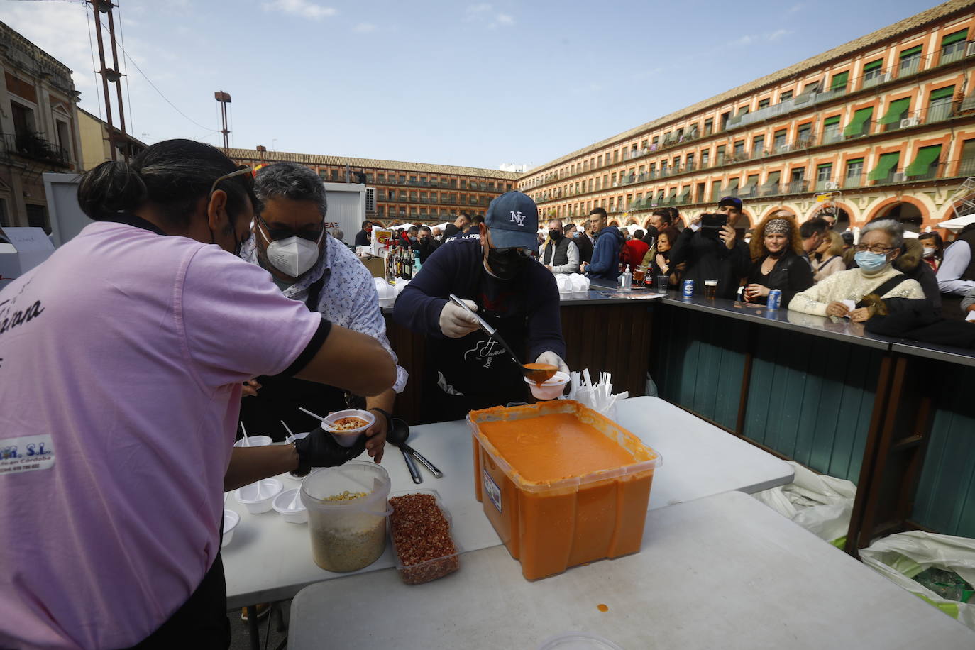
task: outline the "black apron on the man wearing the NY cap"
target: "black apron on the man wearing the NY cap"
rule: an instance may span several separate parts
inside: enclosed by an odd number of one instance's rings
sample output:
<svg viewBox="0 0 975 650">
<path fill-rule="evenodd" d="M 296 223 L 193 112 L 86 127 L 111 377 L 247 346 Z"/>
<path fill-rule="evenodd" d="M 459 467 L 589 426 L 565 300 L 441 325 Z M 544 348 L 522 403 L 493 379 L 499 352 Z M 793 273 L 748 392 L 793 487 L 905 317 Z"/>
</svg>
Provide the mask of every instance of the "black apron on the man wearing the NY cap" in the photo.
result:
<svg viewBox="0 0 975 650">
<path fill-rule="evenodd" d="M 524 291 L 517 290 L 514 283 L 508 287 L 486 276 L 474 300 L 478 314 L 524 359 Z M 480 329 L 462 338 L 428 338 L 424 368 L 423 422 L 460 420 L 474 409 L 534 401 L 518 365 Z"/>
</svg>

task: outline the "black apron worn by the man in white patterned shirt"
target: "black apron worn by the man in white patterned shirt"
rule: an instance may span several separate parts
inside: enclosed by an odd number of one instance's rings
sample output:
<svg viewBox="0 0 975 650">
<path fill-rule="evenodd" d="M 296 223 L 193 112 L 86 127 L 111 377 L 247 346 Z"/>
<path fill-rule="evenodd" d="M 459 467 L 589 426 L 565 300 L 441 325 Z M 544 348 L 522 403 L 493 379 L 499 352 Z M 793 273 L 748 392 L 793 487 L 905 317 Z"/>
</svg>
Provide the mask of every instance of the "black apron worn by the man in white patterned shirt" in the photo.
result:
<svg viewBox="0 0 975 650">
<path fill-rule="evenodd" d="M 305 306 L 317 312 L 318 299 L 325 285 L 325 278 L 308 287 Z M 273 440 L 285 440 L 288 433 L 281 421 L 288 423 L 293 433 L 312 431 L 319 421 L 298 410 L 304 406 L 313 413 L 325 416 L 330 411 L 345 408 L 363 408 L 365 400 L 346 391 L 314 381 L 283 377 L 280 375 L 257 377 L 261 388 L 257 395 L 241 400 L 241 422 L 249 436 L 270 436 Z"/>
</svg>

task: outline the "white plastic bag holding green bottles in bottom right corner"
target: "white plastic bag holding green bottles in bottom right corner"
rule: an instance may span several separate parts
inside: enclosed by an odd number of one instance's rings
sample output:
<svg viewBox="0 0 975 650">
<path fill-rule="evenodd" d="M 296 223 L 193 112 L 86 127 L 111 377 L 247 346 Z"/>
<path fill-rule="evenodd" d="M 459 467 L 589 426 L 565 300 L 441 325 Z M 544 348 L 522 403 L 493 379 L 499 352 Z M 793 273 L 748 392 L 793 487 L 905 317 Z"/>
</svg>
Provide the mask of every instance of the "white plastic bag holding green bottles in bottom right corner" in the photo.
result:
<svg viewBox="0 0 975 650">
<path fill-rule="evenodd" d="M 955 571 L 968 584 L 975 585 L 975 540 L 952 535 L 935 535 L 920 530 L 884 537 L 860 551 L 867 566 L 975 630 L 975 602 L 946 600 L 913 578 L 936 567 Z"/>
</svg>

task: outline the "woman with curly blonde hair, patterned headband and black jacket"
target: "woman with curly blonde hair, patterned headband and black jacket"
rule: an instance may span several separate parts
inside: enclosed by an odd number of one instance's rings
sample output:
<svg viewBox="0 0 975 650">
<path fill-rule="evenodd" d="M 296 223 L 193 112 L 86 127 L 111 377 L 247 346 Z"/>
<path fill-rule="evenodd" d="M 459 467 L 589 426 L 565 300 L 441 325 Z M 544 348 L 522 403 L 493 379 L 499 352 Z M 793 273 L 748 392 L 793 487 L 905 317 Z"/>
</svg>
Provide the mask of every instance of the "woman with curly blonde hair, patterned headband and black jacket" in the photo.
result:
<svg viewBox="0 0 975 650">
<path fill-rule="evenodd" d="M 789 212 L 779 210 L 762 219 L 749 250 L 752 268 L 745 286 L 747 302 L 764 305 L 768 292 L 779 289 L 782 304 L 788 305 L 796 293 L 812 287 L 812 270 L 802 258 L 799 224 Z"/>
</svg>

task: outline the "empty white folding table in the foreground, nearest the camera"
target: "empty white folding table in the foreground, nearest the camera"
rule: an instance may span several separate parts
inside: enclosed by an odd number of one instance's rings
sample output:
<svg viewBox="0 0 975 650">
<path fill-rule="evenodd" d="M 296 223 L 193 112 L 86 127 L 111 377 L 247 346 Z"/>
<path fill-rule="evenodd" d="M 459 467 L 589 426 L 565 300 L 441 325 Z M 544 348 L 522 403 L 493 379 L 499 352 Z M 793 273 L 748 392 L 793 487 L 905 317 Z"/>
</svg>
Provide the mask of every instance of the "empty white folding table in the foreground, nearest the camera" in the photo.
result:
<svg viewBox="0 0 975 650">
<path fill-rule="evenodd" d="M 639 554 L 535 582 L 496 547 L 425 585 L 395 570 L 313 585 L 292 600 L 289 648 L 531 650 L 567 631 L 626 650 L 975 647 L 975 632 L 726 492 L 649 512 Z"/>
</svg>

